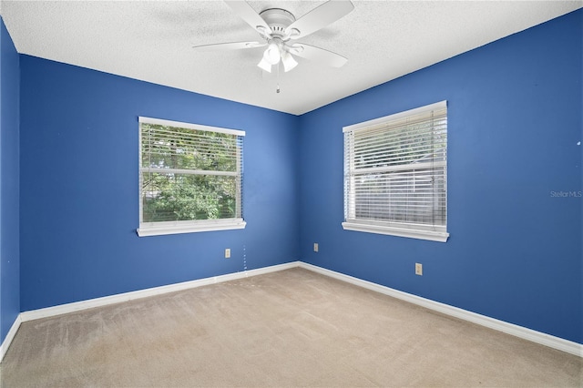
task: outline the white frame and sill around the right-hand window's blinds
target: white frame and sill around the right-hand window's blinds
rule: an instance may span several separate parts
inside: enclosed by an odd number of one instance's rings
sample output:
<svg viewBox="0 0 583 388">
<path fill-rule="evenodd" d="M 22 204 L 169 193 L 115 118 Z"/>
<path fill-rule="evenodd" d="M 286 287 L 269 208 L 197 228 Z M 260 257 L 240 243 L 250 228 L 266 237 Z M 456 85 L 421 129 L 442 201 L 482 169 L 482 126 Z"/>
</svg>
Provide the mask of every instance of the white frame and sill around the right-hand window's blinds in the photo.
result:
<svg viewBox="0 0 583 388">
<path fill-rule="evenodd" d="M 354 231 L 362 231 L 368 233 L 377 233 L 377 234 L 385 234 L 391 236 L 398 236 L 398 237 L 405 237 L 405 238 L 414 238 L 420 240 L 432 240 L 432 241 L 439 241 L 439 242 L 446 242 L 449 238 L 449 233 L 447 232 L 447 142 L 445 142 L 445 161 L 439 162 L 440 166 L 444 168 L 445 174 L 445 225 L 432 225 L 432 224 L 415 224 L 413 222 L 397 222 L 391 220 L 369 220 L 369 219 L 358 219 L 354 215 L 354 218 L 349 215 L 349 208 L 351 207 L 351 203 L 354 201 L 355 193 L 353 192 L 354 186 L 349 184 L 349 179 L 351 179 L 351 168 L 354 170 L 353 163 L 354 160 L 349 159 L 351 158 L 351 152 L 347 152 L 347 149 L 353 152 L 353 144 L 347 144 L 346 133 L 354 133 L 361 130 L 366 130 L 369 128 L 373 128 L 379 125 L 387 124 L 390 122 L 394 122 L 396 120 L 402 120 L 406 117 L 413 117 L 415 115 L 424 114 L 427 112 L 435 111 L 437 109 L 447 109 L 447 101 L 440 101 L 435 104 L 430 104 L 424 107 L 417 107 L 414 109 L 406 110 L 404 112 L 399 112 L 394 115 L 389 115 L 385 117 L 374 118 L 372 120 L 364 121 L 362 123 L 353 124 L 351 126 L 347 126 L 343 128 L 344 134 L 344 221 L 342 223 L 343 230 L 354 230 Z M 445 120 L 447 119 L 447 113 L 445 114 Z M 390 131 L 390 128 L 386 129 Z M 433 129 L 432 129 L 433 130 Z M 349 155 L 347 155 L 347 153 Z M 437 166 L 439 167 L 439 166 Z M 411 168 L 413 169 L 413 168 Z M 351 192 L 349 192 L 349 188 Z M 435 197 L 434 197 L 435 200 Z M 352 202 L 351 202 L 352 201 Z M 350 202 L 350 203 L 349 203 Z M 355 204 L 353 204 L 355 209 Z"/>
</svg>

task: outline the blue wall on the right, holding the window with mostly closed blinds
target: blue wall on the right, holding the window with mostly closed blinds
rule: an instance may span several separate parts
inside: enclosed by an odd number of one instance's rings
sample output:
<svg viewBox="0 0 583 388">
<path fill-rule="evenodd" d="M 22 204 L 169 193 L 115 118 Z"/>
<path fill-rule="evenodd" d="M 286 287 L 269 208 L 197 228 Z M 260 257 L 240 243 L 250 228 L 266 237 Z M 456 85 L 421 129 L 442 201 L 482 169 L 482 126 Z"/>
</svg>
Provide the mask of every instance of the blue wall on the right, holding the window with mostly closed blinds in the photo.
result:
<svg viewBox="0 0 583 388">
<path fill-rule="evenodd" d="M 582 26 L 578 11 L 302 116 L 302 260 L 583 342 L 582 199 L 552 193 L 581 190 Z M 450 239 L 343 230 L 343 127 L 441 100 Z"/>
</svg>

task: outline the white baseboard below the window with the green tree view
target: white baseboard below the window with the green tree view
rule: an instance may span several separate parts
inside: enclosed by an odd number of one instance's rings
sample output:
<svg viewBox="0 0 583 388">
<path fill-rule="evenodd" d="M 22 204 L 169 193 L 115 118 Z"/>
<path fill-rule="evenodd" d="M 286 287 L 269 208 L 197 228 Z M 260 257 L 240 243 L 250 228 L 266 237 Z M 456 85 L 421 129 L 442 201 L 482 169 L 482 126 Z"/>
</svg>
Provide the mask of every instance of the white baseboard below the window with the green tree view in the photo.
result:
<svg viewBox="0 0 583 388">
<path fill-rule="evenodd" d="M 22 322 L 33 321 L 40 318 L 53 317 L 55 315 L 66 314 L 68 312 L 92 309 L 94 307 L 106 306 L 108 304 L 119 303 L 122 301 L 133 301 L 136 299 L 147 298 L 148 296 L 161 295 L 168 292 L 189 290 L 196 287 L 207 286 L 210 284 L 220 283 L 223 281 L 235 281 L 237 279 L 247 278 L 249 276 L 261 275 L 263 273 L 283 271 L 297 267 L 298 261 L 292 261 L 285 264 L 263 267 L 257 270 L 241 271 L 228 273 L 226 275 L 213 276 L 211 278 L 199 279 L 197 281 L 184 281 L 167 286 L 154 287 L 145 290 L 119 293 L 101 298 L 89 299 L 87 301 L 76 301 L 73 303 L 60 304 L 58 306 L 46 307 L 44 309 L 24 311 L 20 313 Z"/>
</svg>

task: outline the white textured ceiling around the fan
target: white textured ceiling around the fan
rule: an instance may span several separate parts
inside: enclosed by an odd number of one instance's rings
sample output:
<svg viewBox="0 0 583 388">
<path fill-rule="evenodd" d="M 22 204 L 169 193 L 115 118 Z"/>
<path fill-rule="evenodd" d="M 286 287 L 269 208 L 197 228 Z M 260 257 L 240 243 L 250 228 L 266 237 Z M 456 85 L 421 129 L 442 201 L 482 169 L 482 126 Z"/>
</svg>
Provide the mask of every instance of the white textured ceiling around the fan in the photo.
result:
<svg viewBox="0 0 583 388">
<path fill-rule="evenodd" d="M 322 1 L 250 1 L 296 18 Z M 264 48 L 191 46 L 259 40 L 222 1 L 6 1 L 0 12 L 21 54 L 267 107 L 295 115 L 433 65 L 583 6 L 583 1 L 353 1 L 354 10 L 300 42 L 346 56 L 342 68 L 298 58 L 274 75 Z M 557 42 L 558 44 L 559 42 Z"/>
</svg>

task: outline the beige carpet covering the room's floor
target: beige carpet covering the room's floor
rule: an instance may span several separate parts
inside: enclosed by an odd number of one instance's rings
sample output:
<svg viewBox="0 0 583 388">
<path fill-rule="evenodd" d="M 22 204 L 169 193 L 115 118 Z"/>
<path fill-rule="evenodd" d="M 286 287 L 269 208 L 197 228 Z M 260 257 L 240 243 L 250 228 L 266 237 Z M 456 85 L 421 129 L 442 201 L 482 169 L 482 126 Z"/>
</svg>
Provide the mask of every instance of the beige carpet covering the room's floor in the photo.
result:
<svg viewBox="0 0 583 388">
<path fill-rule="evenodd" d="M 25 322 L 2 387 L 581 386 L 582 360 L 302 269 Z"/>
</svg>

